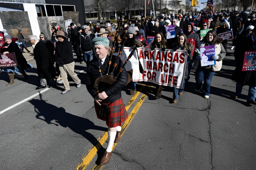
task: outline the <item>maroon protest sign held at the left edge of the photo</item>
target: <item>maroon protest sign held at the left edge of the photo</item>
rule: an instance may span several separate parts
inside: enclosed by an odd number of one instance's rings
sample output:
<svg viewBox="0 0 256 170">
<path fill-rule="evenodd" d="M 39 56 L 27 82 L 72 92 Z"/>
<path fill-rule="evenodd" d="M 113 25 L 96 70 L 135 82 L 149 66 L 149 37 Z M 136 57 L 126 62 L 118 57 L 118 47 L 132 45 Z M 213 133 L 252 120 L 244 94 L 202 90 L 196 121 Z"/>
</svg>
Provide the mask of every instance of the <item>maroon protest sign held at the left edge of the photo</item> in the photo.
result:
<svg viewBox="0 0 256 170">
<path fill-rule="evenodd" d="M 0 54 L 0 67 L 14 67 L 17 65 L 15 53 Z"/>
</svg>

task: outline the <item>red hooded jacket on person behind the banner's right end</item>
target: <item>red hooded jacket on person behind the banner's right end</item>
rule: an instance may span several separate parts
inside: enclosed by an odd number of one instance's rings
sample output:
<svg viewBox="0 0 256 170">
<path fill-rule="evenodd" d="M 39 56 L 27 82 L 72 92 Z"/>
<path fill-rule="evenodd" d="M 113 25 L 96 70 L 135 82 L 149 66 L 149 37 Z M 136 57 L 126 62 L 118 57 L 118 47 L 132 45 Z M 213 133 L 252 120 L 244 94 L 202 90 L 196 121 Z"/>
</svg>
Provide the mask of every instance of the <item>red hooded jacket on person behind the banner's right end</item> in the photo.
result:
<svg viewBox="0 0 256 170">
<path fill-rule="evenodd" d="M 190 32 L 186 31 L 188 25 L 191 26 L 191 31 Z M 188 43 L 191 43 L 193 45 L 192 54 L 194 56 L 195 48 L 198 48 L 198 43 L 200 42 L 200 38 L 199 38 L 198 34 L 196 34 L 194 32 L 194 24 L 193 23 L 188 23 L 186 25 L 186 29 L 184 30 L 184 33 L 188 37 Z"/>
</svg>

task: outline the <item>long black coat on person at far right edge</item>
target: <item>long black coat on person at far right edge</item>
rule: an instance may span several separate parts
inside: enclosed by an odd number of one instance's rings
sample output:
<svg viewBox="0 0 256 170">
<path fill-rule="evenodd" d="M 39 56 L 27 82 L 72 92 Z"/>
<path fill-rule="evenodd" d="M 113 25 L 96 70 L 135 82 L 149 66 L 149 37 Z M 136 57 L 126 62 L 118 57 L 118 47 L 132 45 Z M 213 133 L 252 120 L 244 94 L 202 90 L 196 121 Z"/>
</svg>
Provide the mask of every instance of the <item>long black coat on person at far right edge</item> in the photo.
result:
<svg viewBox="0 0 256 170">
<path fill-rule="evenodd" d="M 234 52 L 236 69 L 234 70 L 231 79 L 239 82 L 241 85 L 256 87 L 256 71 L 242 71 L 245 51 L 255 51 L 251 36 L 244 37 L 236 45 Z"/>
</svg>

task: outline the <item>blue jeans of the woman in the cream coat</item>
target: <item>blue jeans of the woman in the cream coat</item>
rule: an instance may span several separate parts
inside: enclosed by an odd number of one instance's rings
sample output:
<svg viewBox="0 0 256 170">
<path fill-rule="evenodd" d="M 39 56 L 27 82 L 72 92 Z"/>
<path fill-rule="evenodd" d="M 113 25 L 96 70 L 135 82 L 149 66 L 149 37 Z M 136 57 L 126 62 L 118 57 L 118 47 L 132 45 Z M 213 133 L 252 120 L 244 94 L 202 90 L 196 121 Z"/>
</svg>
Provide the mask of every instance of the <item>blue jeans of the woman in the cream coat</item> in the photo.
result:
<svg viewBox="0 0 256 170">
<path fill-rule="evenodd" d="M 214 76 L 215 71 L 212 71 L 211 68 L 206 69 L 198 66 L 198 69 L 195 71 L 195 82 L 196 82 L 196 89 L 203 90 L 203 94 L 209 96 L 210 94 L 210 87 L 212 77 Z M 204 80 L 204 84 L 203 84 Z"/>
</svg>

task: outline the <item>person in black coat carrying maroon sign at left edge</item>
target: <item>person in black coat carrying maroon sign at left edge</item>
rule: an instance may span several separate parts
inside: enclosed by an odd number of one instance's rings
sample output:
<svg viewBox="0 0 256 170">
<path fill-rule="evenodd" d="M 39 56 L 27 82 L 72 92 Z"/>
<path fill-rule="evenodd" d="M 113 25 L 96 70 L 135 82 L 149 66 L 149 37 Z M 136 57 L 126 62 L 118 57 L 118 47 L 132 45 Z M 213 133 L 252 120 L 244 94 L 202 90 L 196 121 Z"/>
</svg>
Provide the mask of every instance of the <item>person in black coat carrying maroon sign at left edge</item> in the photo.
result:
<svg viewBox="0 0 256 170">
<path fill-rule="evenodd" d="M 12 37 L 10 35 L 6 35 L 4 36 L 5 39 L 5 43 L 3 44 L 3 46 L 1 47 L 1 53 L 6 54 L 6 53 L 15 53 L 15 57 L 17 60 L 17 69 L 15 69 L 15 67 L 8 67 L 8 76 L 10 79 L 9 84 L 8 85 L 12 85 L 14 84 L 14 74 L 18 74 L 21 73 L 23 74 L 24 78 L 27 79 L 29 76 L 26 74 L 25 72 L 25 68 L 31 68 L 31 66 L 27 63 L 25 57 L 22 55 L 22 53 L 20 52 L 20 48 L 19 46 L 12 41 Z M 7 67 L 3 68 L 3 70 L 7 69 Z"/>
</svg>

